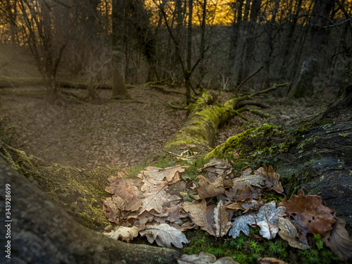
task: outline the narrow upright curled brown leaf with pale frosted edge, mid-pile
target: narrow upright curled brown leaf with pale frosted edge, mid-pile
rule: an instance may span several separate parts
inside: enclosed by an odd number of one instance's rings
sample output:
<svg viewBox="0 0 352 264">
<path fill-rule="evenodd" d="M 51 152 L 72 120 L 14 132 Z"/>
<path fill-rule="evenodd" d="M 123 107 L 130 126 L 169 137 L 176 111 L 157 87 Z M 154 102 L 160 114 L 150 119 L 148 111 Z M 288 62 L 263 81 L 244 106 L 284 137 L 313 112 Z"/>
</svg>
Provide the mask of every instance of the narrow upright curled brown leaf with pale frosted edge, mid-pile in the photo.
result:
<svg viewBox="0 0 352 264">
<path fill-rule="evenodd" d="M 227 231 L 230 230 L 232 223 L 229 222 L 229 213 L 227 213 L 226 206 L 224 205 L 222 200 L 220 200 L 218 202 L 218 205 L 214 208 L 213 219 L 215 236 L 225 236 L 225 234 L 227 234 Z"/>
</svg>

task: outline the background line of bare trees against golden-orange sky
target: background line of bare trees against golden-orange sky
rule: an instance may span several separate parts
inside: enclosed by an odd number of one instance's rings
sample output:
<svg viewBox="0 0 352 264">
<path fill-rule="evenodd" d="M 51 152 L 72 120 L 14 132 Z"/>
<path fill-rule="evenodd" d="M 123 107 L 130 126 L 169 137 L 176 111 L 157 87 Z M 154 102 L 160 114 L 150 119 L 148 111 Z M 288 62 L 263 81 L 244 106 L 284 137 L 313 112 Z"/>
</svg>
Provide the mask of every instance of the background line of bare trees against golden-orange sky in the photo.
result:
<svg viewBox="0 0 352 264">
<path fill-rule="evenodd" d="M 30 47 L 52 96 L 61 68 L 92 98 L 99 82 L 113 98 L 126 83 L 184 85 L 187 101 L 199 87 L 289 82 L 303 97 L 351 84 L 348 0 L 4 0 L 0 13 L 0 41 Z"/>
</svg>

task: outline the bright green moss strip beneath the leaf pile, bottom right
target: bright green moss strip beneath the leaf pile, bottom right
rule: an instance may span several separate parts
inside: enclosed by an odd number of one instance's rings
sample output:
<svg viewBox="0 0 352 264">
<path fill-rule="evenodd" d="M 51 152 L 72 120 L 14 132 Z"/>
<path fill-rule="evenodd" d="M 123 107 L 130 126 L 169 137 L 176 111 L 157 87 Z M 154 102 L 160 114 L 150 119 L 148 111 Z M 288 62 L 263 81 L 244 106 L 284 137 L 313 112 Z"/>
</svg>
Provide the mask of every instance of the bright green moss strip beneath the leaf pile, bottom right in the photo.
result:
<svg viewBox="0 0 352 264">
<path fill-rule="evenodd" d="M 183 253 L 199 254 L 201 251 L 212 253 L 218 258 L 232 257 L 239 263 L 257 263 L 258 258 L 277 258 L 287 263 L 338 263 L 337 256 L 329 249 L 318 249 L 315 240 L 309 238 L 311 249 L 303 251 L 294 249 L 278 236 L 275 239 L 258 240 L 259 228 L 251 227 L 249 237 L 240 234 L 236 239 L 215 239 L 203 230 L 187 232 L 189 246 L 184 247 Z M 324 258 L 322 259 L 322 256 Z M 339 262 L 344 263 L 344 262 Z M 347 262 L 345 262 L 347 263 Z"/>
</svg>

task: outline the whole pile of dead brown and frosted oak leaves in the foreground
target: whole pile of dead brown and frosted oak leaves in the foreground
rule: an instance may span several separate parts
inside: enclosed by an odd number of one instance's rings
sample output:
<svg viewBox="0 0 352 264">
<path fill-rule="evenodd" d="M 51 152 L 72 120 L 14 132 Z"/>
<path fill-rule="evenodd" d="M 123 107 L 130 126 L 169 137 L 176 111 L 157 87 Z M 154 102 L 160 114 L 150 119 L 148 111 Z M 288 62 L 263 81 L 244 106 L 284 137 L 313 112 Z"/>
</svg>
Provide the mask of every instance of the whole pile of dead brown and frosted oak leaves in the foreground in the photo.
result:
<svg viewBox="0 0 352 264">
<path fill-rule="evenodd" d="M 341 260 L 351 258 L 352 239 L 344 228 L 346 222 L 335 218 L 320 196 L 305 196 L 301 190 L 279 204 L 261 199 L 265 189 L 284 191 L 272 166 L 236 175 L 230 163 L 213 158 L 194 181 L 182 177 L 188 167 L 148 167 L 137 180 L 124 173 L 110 177 L 106 191 L 113 196 L 103 200 L 103 213 L 118 227 L 106 233 L 108 237 L 130 241 L 140 234 L 150 243 L 182 248 L 182 243 L 188 243 L 182 233 L 187 229 L 237 238 L 240 232 L 249 236 L 249 227 L 258 226 L 264 238 L 279 234 L 298 249 L 309 249 L 308 233 L 320 234 Z"/>
</svg>

